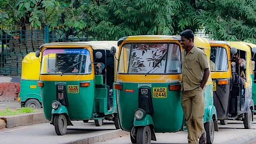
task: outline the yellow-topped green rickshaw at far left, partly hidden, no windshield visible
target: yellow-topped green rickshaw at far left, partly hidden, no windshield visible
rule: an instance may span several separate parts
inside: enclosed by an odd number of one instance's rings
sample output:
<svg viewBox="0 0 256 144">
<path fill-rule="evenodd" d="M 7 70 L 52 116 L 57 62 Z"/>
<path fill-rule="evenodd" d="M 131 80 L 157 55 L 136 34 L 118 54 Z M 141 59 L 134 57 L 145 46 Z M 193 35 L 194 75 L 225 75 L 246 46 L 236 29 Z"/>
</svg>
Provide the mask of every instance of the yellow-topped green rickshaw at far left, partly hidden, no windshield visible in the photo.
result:
<svg viewBox="0 0 256 144">
<path fill-rule="evenodd" d="M 20 92 L 18 100 L 21 107 L 41 108 L 40 89 L 37 86 L 40 71 L 40 61 L 35 52 L 27 54 L 21 64 Z"/>
</svg>

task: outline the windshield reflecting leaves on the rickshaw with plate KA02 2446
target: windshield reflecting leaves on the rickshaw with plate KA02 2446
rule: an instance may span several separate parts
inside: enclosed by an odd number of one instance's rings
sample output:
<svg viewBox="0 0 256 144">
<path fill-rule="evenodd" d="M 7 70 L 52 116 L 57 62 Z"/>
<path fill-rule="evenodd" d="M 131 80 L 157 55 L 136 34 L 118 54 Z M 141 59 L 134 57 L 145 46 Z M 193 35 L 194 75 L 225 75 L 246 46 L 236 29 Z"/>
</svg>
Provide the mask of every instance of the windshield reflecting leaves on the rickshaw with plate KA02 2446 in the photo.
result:
<svg viewBox="0 0 256 144">
<path fill-rule="evenodd" d="M 177 43 L 127 43 L 122 46 L 118 73 L 181 73 L 180 46 Z"/>
</svg>

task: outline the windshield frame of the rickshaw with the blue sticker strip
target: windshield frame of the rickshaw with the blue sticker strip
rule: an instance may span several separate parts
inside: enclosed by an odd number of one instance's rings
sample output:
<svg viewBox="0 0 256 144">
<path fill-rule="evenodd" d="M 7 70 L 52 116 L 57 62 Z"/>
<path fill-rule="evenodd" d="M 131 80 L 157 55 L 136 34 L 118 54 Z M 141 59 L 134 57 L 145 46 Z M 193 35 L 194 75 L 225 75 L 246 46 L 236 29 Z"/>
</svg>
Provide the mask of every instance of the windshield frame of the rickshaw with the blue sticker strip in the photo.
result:
<svg viewBox="0 0 256 144">
<path fill-rule="evenodd" d="M 73 49 L 85 49 L 89 52 L 89 56 L 90 56 L 90 60 L 91 60 L 91 72 L 90 73 L 41 73 L 41 70 L 42 70 L 42 63 L 43 63 L 43 53 L 44 51 L 46 50 L 63 50 L 63 49 L 70 49 L 70 50 L 73 50 Z M 63 46 L 61 48 L 58 48 L 58 47 L 46 47 L 45 49 L 43 49 L 43 51 L 41 52 L 42 53 L 42 57 L 41 57 L 41 64 L 40 64 L 40 71 L 39 71 L 39 75 L 91 75 L 93 73 L 93 61 L 92 61 L 92 54 L 91 54 L 91 51 L 90 49 L 87 49 L 87 47 L 66 47 L 66 46 Z M 50 53 L 49 53 L 50 54 Z M 51 58 L 50 58 L 51 59 Z M 49 65 L 49 64 L 48 64 Z"/>
</svg>

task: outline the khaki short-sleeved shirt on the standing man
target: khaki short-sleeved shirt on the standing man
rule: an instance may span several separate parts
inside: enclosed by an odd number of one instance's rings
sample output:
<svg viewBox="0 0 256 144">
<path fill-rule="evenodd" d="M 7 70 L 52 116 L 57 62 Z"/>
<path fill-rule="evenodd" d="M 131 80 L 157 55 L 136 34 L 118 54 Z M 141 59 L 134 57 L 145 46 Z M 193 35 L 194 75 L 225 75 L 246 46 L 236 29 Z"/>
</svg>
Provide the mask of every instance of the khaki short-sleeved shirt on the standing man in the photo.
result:
<svg viewBox="0 0 256 144">
<path fill-rule="evenodd" d="M 201 85 L 204 76 L 204 69 L 209 68 L 206 54 L 203 50 L 193 46 L 186 54 L 181 53 L 182 84 L 181 90 L 194 90 Z"/>
</svg>

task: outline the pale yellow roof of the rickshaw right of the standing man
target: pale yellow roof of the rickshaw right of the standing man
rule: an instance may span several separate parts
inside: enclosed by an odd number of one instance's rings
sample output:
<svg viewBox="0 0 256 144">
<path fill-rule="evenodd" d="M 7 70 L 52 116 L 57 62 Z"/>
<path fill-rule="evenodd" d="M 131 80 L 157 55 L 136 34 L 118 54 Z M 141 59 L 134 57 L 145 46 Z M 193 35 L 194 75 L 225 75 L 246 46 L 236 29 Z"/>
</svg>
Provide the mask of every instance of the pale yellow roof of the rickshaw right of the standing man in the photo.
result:
<svg viewBox="0 0 256 144">
<path fill-rule="evenodd" d="M 249 46 L 247 46 L 244 42 L 230 42 L 230 41 L 209 41 L 210 44 L 226 44 L 230 48 L 235 47 L 237 50 L 242 50 L 246 52 L 251 52 Z"/>
</svg>

